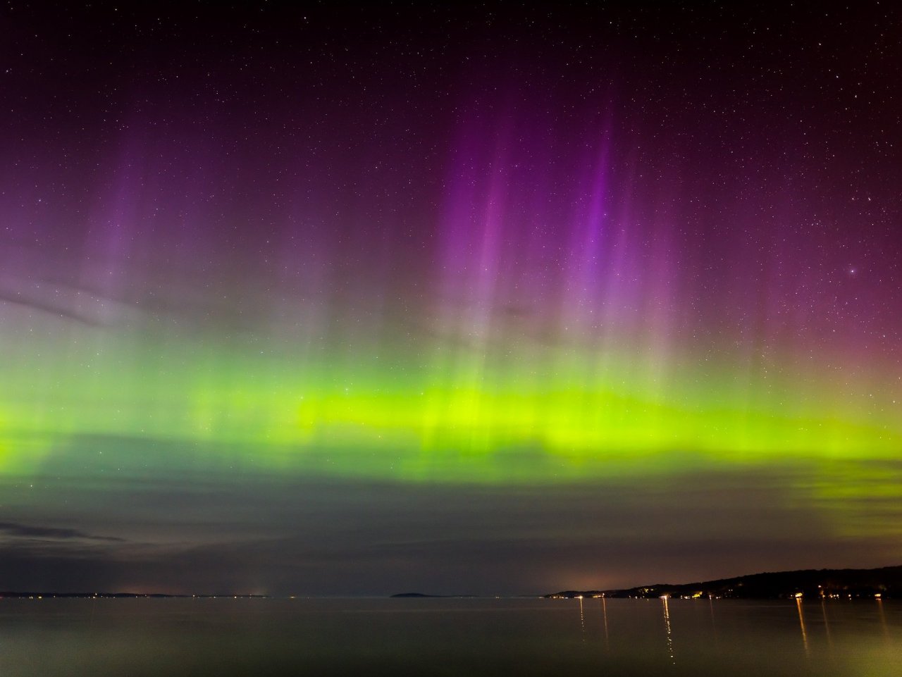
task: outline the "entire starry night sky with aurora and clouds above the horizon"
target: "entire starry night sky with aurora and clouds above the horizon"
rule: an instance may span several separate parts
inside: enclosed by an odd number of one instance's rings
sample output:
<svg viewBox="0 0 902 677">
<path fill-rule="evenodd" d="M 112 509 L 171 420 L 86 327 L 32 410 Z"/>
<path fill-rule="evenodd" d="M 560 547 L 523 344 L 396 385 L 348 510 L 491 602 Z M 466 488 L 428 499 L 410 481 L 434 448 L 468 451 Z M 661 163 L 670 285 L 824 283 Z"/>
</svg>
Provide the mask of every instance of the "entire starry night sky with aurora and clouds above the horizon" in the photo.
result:
<svg viewBox="0 0 902 677">
<path fill-rule="evenodd" d="M 0 9 L 0 590 L 902 563 L 894 3 Z"/>
</svg>

